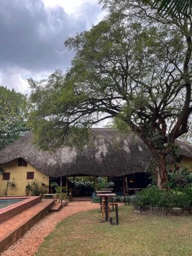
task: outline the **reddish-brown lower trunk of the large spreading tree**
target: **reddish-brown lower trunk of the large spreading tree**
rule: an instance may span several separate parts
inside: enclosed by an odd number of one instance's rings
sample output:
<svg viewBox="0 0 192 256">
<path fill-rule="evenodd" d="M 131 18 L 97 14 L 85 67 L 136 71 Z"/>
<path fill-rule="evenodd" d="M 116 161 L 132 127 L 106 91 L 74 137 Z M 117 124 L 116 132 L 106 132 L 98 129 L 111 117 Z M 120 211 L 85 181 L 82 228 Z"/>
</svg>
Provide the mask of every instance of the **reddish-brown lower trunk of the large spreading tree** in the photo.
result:
<svg viewBox="0 0 192 256">
<path fill-rule="evenodd" d="M 157 154 L 155 159 L 157 160 L 155 164 L 157 185 L 159 188 L 165 188 L 165 183 L 168 182 L 167 171 L 165 167 L 165 155 Z"/>
</svg>

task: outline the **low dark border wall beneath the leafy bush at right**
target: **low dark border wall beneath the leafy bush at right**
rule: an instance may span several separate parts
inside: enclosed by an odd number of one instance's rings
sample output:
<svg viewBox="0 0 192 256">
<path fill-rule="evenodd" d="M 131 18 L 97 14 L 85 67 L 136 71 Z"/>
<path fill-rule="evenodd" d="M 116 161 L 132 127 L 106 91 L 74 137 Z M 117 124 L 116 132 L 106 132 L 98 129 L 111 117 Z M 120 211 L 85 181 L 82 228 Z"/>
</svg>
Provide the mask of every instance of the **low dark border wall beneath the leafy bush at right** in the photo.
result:
<svg viewBox="0 0 192 256">
<path fill-rule="evenodd" d="M 134 211 L 145 215 L 169 215 L 169 216 L 186 216 L 192 215 L 192 208 L 159 208 L 159 207 L 140 207 L 134 205 Z"/>
</svg>

